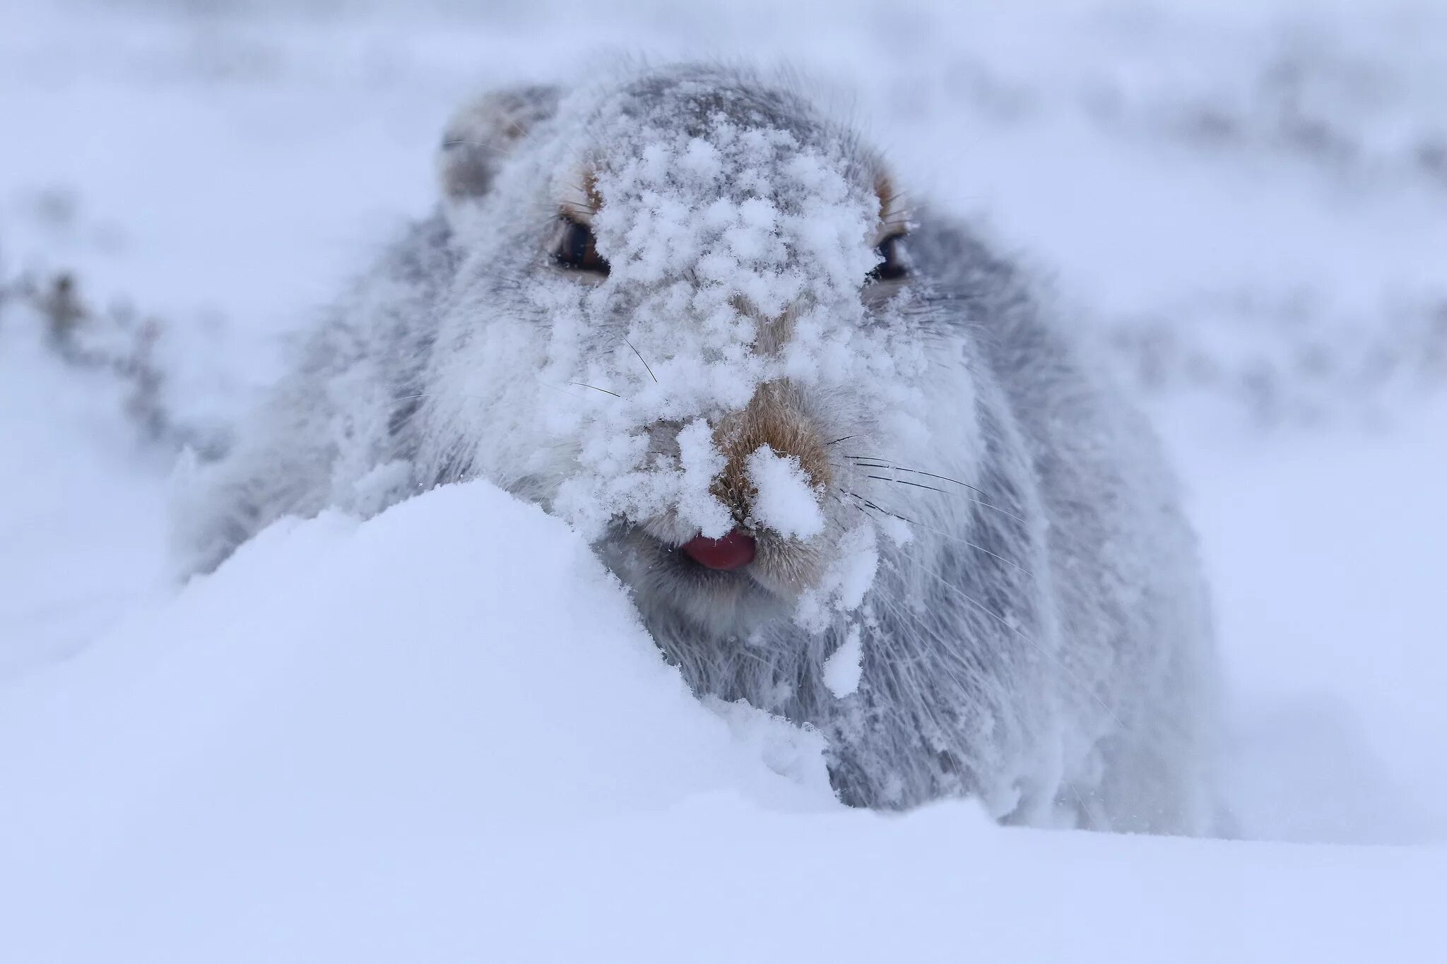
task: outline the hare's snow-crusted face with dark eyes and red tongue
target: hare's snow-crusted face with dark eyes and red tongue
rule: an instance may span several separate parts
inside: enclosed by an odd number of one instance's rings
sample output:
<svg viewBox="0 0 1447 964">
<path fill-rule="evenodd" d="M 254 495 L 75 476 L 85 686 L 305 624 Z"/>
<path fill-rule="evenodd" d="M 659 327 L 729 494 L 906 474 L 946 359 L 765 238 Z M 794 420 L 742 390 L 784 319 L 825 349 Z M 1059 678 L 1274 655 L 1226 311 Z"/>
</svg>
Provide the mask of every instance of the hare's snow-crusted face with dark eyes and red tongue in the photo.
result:
<svg viewBox="0 0 1447 964">
<path fill-rule="evenodd" d="M 535 468 L 483 471 L 692 621 L 857 597 L 887 517 L 852 491 L 858 455 L 922 432 L 925 403 L 878 159 L 793 94 L 693 69 L 492 95 L 443 172 L 488 317 L 473 374 L 532 379 L 512 405 Z"/>
</svg>

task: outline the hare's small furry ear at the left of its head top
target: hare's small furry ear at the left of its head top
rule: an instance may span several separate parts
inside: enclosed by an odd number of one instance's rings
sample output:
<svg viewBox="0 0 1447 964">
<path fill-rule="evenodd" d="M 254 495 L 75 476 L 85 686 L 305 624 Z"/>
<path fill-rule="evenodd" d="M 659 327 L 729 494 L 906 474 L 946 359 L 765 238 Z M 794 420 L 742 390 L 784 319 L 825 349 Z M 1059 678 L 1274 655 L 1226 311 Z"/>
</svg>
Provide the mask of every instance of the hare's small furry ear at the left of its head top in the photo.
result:
<svg viewBox="0 0 1447 964">
<path fill-rule="evenodd" d="M 559 95 L 556 87 L 512 87 L 453 114 L 437 152 L 443 202 L 456 207 L 485 195 L 512 149 L 557 113 Z"/>
</svg>

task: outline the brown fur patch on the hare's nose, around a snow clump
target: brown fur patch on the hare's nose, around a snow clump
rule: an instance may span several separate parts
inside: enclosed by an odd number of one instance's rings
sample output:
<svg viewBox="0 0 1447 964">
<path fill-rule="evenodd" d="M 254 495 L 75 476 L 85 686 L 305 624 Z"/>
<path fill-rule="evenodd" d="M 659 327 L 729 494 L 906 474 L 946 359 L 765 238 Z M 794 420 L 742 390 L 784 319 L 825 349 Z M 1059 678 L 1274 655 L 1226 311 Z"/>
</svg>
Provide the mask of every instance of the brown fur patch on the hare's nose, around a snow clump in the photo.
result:
<svg viewBox="0 0 1447 964">
<path fill-rule="evenodd" d="M 748 478 L 748 457 L 764 445 L 784 458 L 797 458 L 815 491 L 829 489 L 829 452 L 819 429 L 805 415 L 803 395 L 789 382 L 758 386 L 744 410 L 713 429 L 713 442 L 728 460 L 724 474 L 713 483 L 713 494 L 739 523 L 748 519 L 755 494 Z"/>
</svg>

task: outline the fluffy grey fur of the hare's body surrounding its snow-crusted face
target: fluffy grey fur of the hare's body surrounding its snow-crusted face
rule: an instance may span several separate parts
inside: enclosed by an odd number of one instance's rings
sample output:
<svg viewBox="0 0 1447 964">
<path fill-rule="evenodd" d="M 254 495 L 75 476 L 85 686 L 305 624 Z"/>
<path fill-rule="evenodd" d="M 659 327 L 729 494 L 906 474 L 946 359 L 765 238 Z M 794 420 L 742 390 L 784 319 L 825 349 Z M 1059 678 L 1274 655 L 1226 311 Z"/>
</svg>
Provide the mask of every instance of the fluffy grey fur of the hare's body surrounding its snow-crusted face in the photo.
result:
<svg viewBox="0 0 1447 964">
<path fill-rule="evenodd" d="M 496 454 L 515 439 L 491 422 L 517 406 L 486 379 L 470 396 L 456 370 L 486 369 L 479 325 L 550 325 L 525 293 L 553 270 L 537 251 L 560 159 L 622 130 L 609 119 L 706 136 L 719 116 L 822 145 L 861 184 L 880 166 L 797 92 L 710 66 L 642 71 L 561 103 L 553 88 L 504 91 L 462 111 L 444 142 L 443 214 L 328 315 L 243 444 L 182 500 L 188 568 L 213 568 L 282 515 L 376 512 L 476 475 L 551 507 L 573 449 Z M 789 594 L 680 565 L 644 520 L 615 517 L 599 555 L 696 692 L 823 731 L 848 804 L 975 795 L 1016 822 L 1204 832 L 1215 811 L 1215 660 L 1175 481 L 1032 280 L 965 225 L 916 220 L 915 280 L 891 311 L 932 353 L 932 419 L 964 423 L 978 447 L 896 452 L 862 406 L 812 400 L 820 431 L 851 436 L 832 449 L 831 525 L 913 522 L 912 542 L 881 541 L 864 617 L 803 629 Z M 874 317 L 874 293 L 861 298 Z M 658 451 L 676 448 L 676 431 L 655 431 Z M 498 445 L 479 445 L 489 432 Z M 890 468 L 861 470 L 860 455 Z M 862 632 L 862 676 L 839 698 L 823 665 L 851 627 Z"/>
</svg>

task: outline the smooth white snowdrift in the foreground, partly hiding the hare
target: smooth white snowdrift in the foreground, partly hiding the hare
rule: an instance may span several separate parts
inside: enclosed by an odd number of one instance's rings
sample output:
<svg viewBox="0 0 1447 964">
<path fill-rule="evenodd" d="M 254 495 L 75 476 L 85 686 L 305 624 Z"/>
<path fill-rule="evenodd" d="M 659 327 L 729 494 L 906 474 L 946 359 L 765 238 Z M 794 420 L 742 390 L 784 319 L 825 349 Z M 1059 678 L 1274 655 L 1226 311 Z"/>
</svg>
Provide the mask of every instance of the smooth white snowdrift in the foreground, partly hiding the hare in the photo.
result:
<svg viewBox="0 0 1447 964">
<path fill-rule="evenodd" d="M 485 483 L 284 522 L 0 691 L 4 958 L 1412 960 L 1447 870 L 849 811 L 822 750 Z"/>
</svg>

